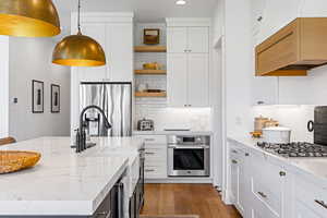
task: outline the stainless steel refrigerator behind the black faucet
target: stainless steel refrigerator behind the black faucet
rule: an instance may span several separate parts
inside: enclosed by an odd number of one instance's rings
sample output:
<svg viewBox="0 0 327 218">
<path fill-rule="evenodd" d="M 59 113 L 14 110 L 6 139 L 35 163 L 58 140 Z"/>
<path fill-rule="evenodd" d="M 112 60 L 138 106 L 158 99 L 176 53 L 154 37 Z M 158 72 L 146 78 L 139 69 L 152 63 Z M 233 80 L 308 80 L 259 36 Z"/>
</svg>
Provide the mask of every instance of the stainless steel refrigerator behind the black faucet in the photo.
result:
<svg viewBox="0 0 327 218">
<path fill-rule="evenodd" d="M 95 105 L 100 107 L 112 125 L 107 130 L 98 111 L 88 110 L 84 120 L 90 136 L 132 135 L 131 83 L 81 83 L 80 111 Z"/>
</svg>

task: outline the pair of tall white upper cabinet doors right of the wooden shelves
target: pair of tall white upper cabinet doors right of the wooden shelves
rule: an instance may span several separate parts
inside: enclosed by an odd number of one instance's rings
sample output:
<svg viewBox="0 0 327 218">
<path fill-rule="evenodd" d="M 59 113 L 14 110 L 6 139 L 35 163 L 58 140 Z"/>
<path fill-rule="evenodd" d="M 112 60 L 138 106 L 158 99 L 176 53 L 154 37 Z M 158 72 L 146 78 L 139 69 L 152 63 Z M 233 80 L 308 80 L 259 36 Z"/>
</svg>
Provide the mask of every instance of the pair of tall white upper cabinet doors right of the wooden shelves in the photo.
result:
<svg viewBox="0 0 327 218">
<path fill-rule="evenodd" d="M 209 66 L 206 53 L 168 53 L 167 89 L 171 107 L 207 107 Z"/>
</svg>

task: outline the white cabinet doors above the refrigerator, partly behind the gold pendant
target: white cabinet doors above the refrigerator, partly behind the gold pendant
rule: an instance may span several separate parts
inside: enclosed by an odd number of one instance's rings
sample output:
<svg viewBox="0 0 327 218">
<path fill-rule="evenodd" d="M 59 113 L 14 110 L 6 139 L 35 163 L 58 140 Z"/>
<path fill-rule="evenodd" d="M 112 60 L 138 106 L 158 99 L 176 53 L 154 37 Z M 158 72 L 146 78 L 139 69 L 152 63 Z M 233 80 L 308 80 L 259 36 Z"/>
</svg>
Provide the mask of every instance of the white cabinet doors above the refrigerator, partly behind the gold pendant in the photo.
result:
<svg viewBox="0 0 327 218">
<path fill-rule="evenodd" d="M 84 16 L 83 16 L 84 17 Z M 98 22 L 82 17 L 82 33 L 97 40 L 106 53 L 106 65 L 77 68 L 83 82 L 133 81 L 133 24 L 132 22 Z"/>
</svg>

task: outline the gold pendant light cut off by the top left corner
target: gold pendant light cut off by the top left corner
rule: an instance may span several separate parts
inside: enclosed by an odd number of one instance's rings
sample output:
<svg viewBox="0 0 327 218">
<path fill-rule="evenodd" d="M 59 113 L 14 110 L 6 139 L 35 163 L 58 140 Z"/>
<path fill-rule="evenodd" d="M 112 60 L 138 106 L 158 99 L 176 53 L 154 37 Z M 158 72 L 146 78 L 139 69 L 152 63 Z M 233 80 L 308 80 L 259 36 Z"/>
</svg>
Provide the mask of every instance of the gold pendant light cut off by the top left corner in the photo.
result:
<svg viewBox="0 0 327 218">
<path fill-rule="evenodd" d="M 51 0 L 0 0 L 0 35 L 50 37 L 60 32 Z"/>
</svg>

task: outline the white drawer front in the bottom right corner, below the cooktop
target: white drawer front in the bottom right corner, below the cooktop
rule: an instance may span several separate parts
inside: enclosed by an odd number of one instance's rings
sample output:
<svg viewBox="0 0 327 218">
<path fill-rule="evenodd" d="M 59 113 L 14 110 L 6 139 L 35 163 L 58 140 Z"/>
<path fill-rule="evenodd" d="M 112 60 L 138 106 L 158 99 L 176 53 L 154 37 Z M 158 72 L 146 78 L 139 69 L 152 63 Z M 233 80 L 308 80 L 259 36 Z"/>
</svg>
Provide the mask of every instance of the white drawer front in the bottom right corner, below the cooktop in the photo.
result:
<svg viewBox="0 0 327 218">
<path fill-rule="evenodd" d="M 316 217 L 326 218 L 327 189 L 305 181 L 303 178 L 296 178 L 295 181 L 295 202 L 301 203 L 307 211 L 311 210 L 312 214 L 316 214 Z"/>
</svg>

